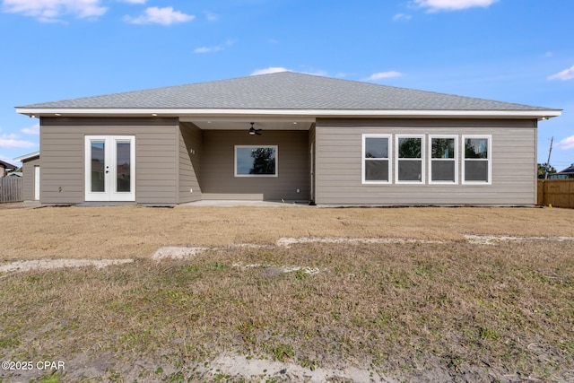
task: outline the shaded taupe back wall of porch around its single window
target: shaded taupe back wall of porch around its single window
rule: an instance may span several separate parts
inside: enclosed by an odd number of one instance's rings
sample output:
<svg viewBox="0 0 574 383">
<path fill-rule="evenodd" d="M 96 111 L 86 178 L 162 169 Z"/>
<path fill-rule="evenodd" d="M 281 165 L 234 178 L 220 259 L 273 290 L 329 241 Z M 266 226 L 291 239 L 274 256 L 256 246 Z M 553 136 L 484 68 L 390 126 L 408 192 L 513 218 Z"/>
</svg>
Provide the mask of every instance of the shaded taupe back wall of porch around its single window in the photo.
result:
<svg viewBox="0 0 574 383">
<path fill-rule="evenodd" d="M 278 177 L 235 177 L 235 145 L 277 145 Z M 309 131 L 205 130 L 201 163 L 204 199 L 309 200 Z"/>
</svg>

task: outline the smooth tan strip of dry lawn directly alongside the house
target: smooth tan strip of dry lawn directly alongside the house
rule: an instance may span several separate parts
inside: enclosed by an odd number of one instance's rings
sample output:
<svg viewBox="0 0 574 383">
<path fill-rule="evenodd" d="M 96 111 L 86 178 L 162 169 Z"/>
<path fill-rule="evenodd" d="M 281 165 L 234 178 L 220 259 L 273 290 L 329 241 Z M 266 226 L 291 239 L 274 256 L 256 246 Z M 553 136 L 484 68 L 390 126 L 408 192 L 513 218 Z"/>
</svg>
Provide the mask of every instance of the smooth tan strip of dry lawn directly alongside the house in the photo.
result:
<svg viewBox="0 0 574 383">
<path fill-rule="evenodd" d="M 556 208 L 46 207 L 1 209 L 0 262 L 147 258 L 164 246 L 274 244 L 282 237 L 463 239 L 465 234 L 574 237 Z"/>
</svg>

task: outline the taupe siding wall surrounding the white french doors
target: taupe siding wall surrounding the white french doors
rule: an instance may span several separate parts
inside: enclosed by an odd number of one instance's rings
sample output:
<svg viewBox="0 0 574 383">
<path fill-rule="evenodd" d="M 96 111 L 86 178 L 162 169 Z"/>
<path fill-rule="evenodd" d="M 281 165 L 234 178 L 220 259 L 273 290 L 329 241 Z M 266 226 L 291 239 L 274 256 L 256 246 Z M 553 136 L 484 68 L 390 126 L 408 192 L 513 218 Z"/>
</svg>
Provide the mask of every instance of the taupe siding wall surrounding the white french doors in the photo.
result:
<svg viewBox="0 0 574 383">
<path fill-rule="evenodd" d="M 177 118 L 41 118 L 42 205 L 84 201 L 84 137 L 135 135 L 135 202 L 178 201 Z"/>
</svg>

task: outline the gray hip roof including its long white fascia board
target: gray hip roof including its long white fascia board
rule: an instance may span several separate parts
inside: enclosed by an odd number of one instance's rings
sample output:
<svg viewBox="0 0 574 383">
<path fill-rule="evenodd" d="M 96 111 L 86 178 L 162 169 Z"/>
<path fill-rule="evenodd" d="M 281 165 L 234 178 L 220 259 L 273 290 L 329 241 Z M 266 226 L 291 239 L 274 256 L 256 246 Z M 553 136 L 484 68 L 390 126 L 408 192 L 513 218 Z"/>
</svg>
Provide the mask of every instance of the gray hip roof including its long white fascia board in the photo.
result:
<svg viewBox="0 0 574 383">
<path fill-rule="evenodd" d="M 282 72 L 17 107 L 35 116 L 162 116 L 262 113 L 300 116 L 512 116 L 549 118 L 560 109 Z"/>
</svg>

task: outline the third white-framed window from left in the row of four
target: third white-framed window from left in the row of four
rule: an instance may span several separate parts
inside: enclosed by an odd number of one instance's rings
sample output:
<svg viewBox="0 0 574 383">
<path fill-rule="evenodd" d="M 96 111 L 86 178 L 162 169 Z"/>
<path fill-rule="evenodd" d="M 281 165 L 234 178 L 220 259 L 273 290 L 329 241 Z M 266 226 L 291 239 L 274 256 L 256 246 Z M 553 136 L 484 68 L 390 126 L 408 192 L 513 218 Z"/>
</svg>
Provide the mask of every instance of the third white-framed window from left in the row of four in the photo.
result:
<svg viewBox="0 0 574 383">
<path fill-rule="evenodd" d="M 457 135 L 429 135 L 430 184 L 458 183 Z"/>
</svg>

